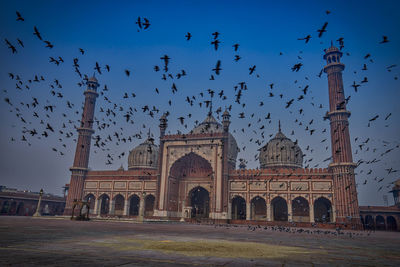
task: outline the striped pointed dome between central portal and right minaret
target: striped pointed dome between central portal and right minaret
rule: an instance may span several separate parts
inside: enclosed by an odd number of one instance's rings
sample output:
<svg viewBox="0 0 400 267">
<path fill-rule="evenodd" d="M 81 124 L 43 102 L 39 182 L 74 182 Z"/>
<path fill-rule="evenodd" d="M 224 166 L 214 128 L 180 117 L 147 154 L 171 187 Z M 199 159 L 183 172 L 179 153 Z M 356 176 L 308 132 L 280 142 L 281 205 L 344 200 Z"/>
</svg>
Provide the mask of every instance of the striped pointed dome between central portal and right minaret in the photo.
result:
<svg viewBox="0 0 400 267">
<path fill-rule="evenodd" d="M 260 151 L 260 168 L 302 168 L 303 152 L 279 129 L 278 133 Z"/>
</svg>

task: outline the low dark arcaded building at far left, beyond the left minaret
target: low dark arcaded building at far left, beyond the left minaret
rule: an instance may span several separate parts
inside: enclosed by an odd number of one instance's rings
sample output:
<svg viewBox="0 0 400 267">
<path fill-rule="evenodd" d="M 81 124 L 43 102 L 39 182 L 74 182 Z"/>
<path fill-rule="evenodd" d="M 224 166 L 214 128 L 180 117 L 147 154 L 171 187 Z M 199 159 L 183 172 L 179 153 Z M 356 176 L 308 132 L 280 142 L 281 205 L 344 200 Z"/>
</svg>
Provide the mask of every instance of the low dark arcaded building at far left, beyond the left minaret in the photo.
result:
<svg viewBox="0 0 400 267">
<path fill-rule="evenodd" d="M 37 208 L 39 192 L 18 191 L 0 186 L 0 215 L 32 216 Z M 43 194 L 40 205 L 42 215 L 62 215 L 65 198 Z"/>
</svg>

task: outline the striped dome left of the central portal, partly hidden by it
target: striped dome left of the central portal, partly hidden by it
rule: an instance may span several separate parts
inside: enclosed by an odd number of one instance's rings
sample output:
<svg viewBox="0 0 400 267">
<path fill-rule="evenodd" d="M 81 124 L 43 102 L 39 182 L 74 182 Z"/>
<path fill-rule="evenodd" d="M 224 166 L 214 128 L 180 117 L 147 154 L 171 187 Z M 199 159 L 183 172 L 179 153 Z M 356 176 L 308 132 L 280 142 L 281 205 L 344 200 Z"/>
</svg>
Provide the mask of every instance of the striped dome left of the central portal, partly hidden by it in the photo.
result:
<svg viewBox="0 0 400 267">
<path fill-rule="evenodd" d="M 154 144 L 154 139 L 148 138 L 129 152 L 128 170 L 157 168 L 158 146 Z"/>
</svg>

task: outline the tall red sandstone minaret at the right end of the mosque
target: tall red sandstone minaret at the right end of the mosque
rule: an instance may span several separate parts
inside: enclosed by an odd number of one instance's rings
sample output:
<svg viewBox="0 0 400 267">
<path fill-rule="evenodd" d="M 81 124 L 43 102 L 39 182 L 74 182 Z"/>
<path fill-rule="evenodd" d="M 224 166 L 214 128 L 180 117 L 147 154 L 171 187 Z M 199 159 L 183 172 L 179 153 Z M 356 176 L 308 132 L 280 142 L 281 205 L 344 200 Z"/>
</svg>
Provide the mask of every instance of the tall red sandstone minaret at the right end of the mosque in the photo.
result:
<svg viewBox="0 0 400 267">
<path fill-rule="evenodd" d="M 324 72 L 328 74 L 329 112 L 326 117 L 331 125 L 332 163 L 329 169 L 333 173 L 335 193 L 334 209 L 336 222 L 361 227 L 358 209 L 357 191 L 351 153 L 349 122 L 350 112 L 346 110 L 342 71 L 344 64 L 340 63 L 342 52 L 331 45 L 325 50 L 324 59 L 327 65 Z"/>
</svg>

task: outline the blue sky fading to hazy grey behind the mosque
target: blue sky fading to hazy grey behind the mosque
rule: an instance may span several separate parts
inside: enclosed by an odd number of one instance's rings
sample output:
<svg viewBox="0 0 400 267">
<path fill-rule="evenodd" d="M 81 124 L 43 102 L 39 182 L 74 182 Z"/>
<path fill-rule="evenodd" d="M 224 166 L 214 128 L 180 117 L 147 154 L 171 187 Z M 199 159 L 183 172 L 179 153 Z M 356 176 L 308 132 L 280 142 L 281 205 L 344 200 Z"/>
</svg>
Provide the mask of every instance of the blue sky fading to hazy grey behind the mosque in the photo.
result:
<svg viewBox="0 0 400 267">
<path fill-rule="evenodd" d="M 387 171 L 400 169 L 399 8 L 399 1 L 1 1 L 0 184 L 61 194 L 62 186 L 69 183 L 77 137 L 74 126 L 79 125 L 85 89 L 78 86 L 82 79 L 74 71 L 74 58 L 82 74 L 92 75 L 98 62 L 102 71 L 96 74 L 99 91 L 108 87 L 96 103 L 96 120 L 109 126 L 100 130 L 96 125 L 94 135 L 99 135 L 105 146 L 92 146 L 92 169 L 117 169 L 121 164 L 126 169 L 129 150 L 143 142 L 138 134 L 145 138 L 150 128 L 158 143 L 158 119 L 163 112 L 170 112 L 169 133 L 189 132 L 195 121 L 202 121 L 207 114 L 204 103 L 199 106 L 210 99 L 207 89 L 216 93 L 214 111 L 232 105 L 231 132 L 241 149 L 238 159 L 246 159 L 248 168 L 259 167 L 258 149 L 275 135 L 278 120 L 282 131 L 293 141 L 297 139 L 306 154 L 304 166 L 325 168 L 329 161 L 324 160 L 331 156 L 329 121 L 323 120 L 328 110 L 328 83 L 325 74 L 318 74 L 325 65 L 323 50 L 331 40 L 339 46 L 336 40 L 343 37 L 343 80 L 345 95 L 351 96 L 347 108 L 352 112 L 353 157 L 355 162 L 364 161 L 356 169 L 359 202 L 383 205 L 383 196 L 388 195 L 392 204 L 388 191 L 400 177 L 400 171 Z M 16 21 L 16 11 L 25 21 Z M 135 24 L 138 17 L 150 21 L 148 29 L 139 29 Z M 327 32 L 318 38 L 317 30 L 325 22 Z M 33 35 L 34 26 L 53 48 L 46 48 Z M 211 44 L 216 31 L 221 42 L 218 50 Z M 192 35 L 189 41 L 187 32 Z M 308 34 L 312 37 L 307 44 L 298 40 Z M 383 35 L 389 42 L 380 44 Z M 5 39 L 17 53 L 12 53 Z M 232 47 L 235 43 L 240 44 L 237 52 Z M 84 55 L 79 48 L 84 49 Z M 160 58 L 164 55 L 171 58 L 168 73 L 173 79 L 161 79 L 165 72 Z M 235 55 L 241 57 L 237 62 Z M 62 57 L 64 62 L 57 66 L 49 62 L 50 57 Z M 220 75 L 212 71 L 218 60 Z M 303 67 L 293 72 L 291 68 L 297 63 Z M 161 68 L 158 72 L 154 71 L 156 65 Z M 250 75 L 249 68 L 254 65 Z M 130 71 L 129 77 L 125 70 Z M 187 75 L 178 79 L 176 74 L 182 70 Z M 33 81 L 35 75 L 39 80 L 43 76 L 44 81 Z M 210 80 L 211 75 L 215 80 Z M 361 83 L 364 77 L 368 82 Z M 234 87 L 240 82 L 246 82 L 247 90 L 238 104 Z M 361 84 L 357 93 L 351 87 L 353 82 Z M 178 89 L 175 94 L 173 83 Z M 307 85 L 304 99 L 297 100 Z M 218 96 L 221 90 L 226 100 Z M 128 98 L 124 98 L 125 93 Z M 186 102 L 187 97 L 193 106 Z M 33 98 L 39 102 L 35 107 Z M 286 109 L 290 99 L 294 103 Z M 69 108 L 67 101 L 74 106 Z M 55 106 L 53 112 L 44 109 L 49 105 Z M 159 113 L 154 112 L 152 118 L 148 111 L 142 112 L 146 105 Z M 133 123 L 124 117 L 130 107 L 137 110 L 131 117 Z M 107 114 L 108 109 L 115 117 Z M 239 118 L 242 112 L 244 119 Z M 265 118 L 268 113 L 270 120 Z M 376 115 L 379 117 L 368 126 Z M 178 120 L 181 116 L 185 117 L 184 125 Z M 54 133 L 46 130 L 47 123 Z M 313 135 L 305 130 L 307 126 L 315 129 Z M 33 130 L 38 134 L 31 136 Z M 44 131 L 47 138 L 42 136 Z M 115 132 L 120 139 L 130 136 L 132 141 L 118 141 Z M 22 141 L 23 136 L 27 141 Z M 109 159 L 111 165 L 106 164 Z M 378 162 L 367 164 L 373 159 Z"/>
</svg>

